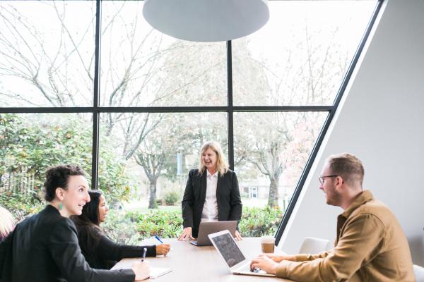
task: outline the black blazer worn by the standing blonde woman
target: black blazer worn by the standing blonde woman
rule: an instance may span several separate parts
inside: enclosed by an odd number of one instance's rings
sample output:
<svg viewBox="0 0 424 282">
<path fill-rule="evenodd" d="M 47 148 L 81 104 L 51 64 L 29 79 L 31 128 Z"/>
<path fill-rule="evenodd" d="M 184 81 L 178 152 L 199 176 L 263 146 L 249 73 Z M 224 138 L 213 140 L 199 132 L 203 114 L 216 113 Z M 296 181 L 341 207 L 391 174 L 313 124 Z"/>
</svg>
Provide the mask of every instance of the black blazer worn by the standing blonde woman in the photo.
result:
<svg viewBox="0 0 424 282">
<path fill-rule="evenodd" d="M 192 169 L 182 197 L 182 224 L 184 228 L 193 228 L 193 237 L 197 237 L 199 233 L 201 212 L 206 198 L 206 175 L 206 169 L 201 176 L 198 169 Z M 216 202 L 218 202 L 218 221 L 240 221 L 242 200 L 234 171 L 228 170 L 223 176 L 218 176 Z"/>
</svg>

